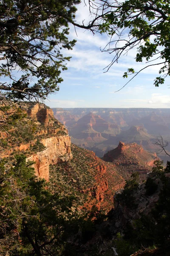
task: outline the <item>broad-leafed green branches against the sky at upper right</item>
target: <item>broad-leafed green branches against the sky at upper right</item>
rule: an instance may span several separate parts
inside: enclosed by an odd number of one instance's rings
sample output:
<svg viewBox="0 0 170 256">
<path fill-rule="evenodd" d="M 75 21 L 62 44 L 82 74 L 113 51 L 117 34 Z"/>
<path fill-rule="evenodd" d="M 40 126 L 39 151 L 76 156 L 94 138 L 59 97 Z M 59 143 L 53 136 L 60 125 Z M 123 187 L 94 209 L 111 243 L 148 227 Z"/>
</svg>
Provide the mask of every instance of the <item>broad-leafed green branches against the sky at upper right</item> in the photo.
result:
<svg viewBox="0 0 170 256">
<path fill-rule="evenodd" d="M 110 36 L 110 42 L 102 49 L 113 54 L 106 72 L 122 55 L 135 50 L 136 62 L 145 61 L 146 65 L 138 71 L 128 68 L 123 77 L 133 74 L 135 77 L 145 68 L 159 65 L 160 76 L 156 77 L 154 85 L 163 84 L 170 76 L 170 1 L 90 0 L 89 5 L 94 18 L 87 26 L 84 21 L 82 25 L 74 24 Z"/>
</svg>

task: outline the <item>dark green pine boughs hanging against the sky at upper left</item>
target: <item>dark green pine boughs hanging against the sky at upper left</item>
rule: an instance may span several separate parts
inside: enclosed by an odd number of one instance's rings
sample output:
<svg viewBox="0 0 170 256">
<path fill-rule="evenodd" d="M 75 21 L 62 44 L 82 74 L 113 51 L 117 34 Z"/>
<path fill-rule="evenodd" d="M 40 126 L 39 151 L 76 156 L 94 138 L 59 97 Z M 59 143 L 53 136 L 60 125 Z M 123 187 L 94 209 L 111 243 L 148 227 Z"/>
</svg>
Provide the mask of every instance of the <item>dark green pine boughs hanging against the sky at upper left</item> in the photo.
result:
<svg viewBox="0 0 170 256">
<path fill-rule="evenodd" d="M 59 90 L 72 49 L 68 23 L 79 0 L 0 1 L 0 90 L 11 99 L 45 99 Z M 17 71 L 22 71 L 18 77 Z"/>
</svg>

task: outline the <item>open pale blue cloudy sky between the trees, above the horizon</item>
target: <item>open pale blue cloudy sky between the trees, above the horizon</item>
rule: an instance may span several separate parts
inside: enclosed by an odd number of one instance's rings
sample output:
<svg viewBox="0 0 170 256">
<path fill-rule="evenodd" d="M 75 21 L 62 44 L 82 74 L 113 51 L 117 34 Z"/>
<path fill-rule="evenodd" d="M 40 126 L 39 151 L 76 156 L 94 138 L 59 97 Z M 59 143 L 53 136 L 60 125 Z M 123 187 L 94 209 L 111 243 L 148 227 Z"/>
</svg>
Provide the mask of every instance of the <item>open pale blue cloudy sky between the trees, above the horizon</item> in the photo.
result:
<svg viewBox="0 0 170 256">
<path fill-rule="evenodd" d="M 89 20 L 88 8 L 79 5 L 77 22 Z M 153 85 L 159 66 L 142 71 L 135 79 L 119 90 L 128 81 L 122 75 L 127 68 L 139 71 L 145 63 L 136 63 L 133 49 L 113 64 L 107 73 L 104 68 L 110 64 L 113 55 L 101 52 L 109 42 L 107 35 L 93 35 L 91 32 L 71 26 L 70 39 L 77 44 L 64 55 L 72 56 L 68 70 L 62 72 L 64 81 L 58 93 L 45 101 L 52 108 L 170 108 L 170 78 L 159 88 Z M 131 78 L 131 77 L 130 77 Z"/>
</svg>

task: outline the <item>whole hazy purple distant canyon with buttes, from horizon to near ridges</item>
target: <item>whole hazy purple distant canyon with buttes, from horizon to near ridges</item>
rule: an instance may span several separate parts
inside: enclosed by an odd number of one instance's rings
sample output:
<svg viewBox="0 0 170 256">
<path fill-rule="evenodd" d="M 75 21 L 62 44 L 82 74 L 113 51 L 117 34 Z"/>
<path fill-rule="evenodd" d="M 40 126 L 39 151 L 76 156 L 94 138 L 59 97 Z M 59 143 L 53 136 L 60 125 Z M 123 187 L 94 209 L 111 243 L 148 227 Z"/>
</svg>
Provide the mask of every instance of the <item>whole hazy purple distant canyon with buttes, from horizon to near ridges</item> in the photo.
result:
<svg viewBox="0 0 170 256">
<path fill-rule="evenodd" d="M 116 148 L 119 141 L 137 143 L 150 153 L 168 157 L 155 144 L 161 135 L 170 142 L 169 109 L 152 108 L 52 108 L 54 116 L 65 124 L 71 142 L 92 150 L 97 156 Z M 170 152 L 170 144 L 167 145 Z"/>
</svg>

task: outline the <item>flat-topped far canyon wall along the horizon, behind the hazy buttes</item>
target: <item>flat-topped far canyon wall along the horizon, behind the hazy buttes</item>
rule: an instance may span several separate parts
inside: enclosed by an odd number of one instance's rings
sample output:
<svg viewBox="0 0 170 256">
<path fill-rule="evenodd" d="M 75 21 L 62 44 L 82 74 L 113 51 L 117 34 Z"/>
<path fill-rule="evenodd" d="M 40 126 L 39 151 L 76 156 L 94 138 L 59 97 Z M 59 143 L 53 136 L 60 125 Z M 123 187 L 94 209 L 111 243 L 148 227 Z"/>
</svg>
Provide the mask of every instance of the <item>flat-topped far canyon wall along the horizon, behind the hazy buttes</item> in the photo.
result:
<svg viewBox="0 0 170 256">
<path fill-rule="evenodd" d="M 117 124 L 120 127 L 141 125 L 144 122 L 142 118 L 148 116 L 148 122 L 145 122 L 148 127 L 151 120 L 151 122 L 155 121 L 155 124 L 158 122 L 159 124 L 166 125 L 170 128 L 170 113 L 168 108 L 53 108 L 52 110 L 54 111 L 54 116 L 59 119 L 59 121 L 65 119 L 67 120 L 66 122 L 69 122 L 69 116 L 71 118 L 76 116 L 76 119 L 78 120 L 91 112 L 101 116 L 105 121 Z M 149 116 L 151 116 L 151 118 Z M 77 122 L 77 120 L 74 122 Z M 159 133 L 160 130 L 158 131 L 158 135 Z"/>
</svg>

